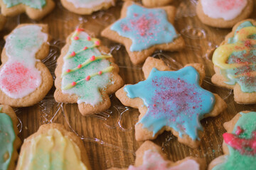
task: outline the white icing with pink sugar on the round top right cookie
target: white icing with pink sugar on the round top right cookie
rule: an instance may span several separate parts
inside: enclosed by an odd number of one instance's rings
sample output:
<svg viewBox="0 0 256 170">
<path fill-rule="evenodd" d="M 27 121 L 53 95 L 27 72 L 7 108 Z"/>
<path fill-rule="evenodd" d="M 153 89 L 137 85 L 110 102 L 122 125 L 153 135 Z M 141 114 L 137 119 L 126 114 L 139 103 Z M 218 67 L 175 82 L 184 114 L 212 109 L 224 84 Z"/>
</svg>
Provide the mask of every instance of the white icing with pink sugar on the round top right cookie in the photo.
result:
<svg viewBox="0 0 256 170">
<path fill-rule="evenodd" d="M 225 21 L 238 17 L 247 5 L 247 0 L 201 0 L 203 12 L 210 18 Z"/>
</svg>

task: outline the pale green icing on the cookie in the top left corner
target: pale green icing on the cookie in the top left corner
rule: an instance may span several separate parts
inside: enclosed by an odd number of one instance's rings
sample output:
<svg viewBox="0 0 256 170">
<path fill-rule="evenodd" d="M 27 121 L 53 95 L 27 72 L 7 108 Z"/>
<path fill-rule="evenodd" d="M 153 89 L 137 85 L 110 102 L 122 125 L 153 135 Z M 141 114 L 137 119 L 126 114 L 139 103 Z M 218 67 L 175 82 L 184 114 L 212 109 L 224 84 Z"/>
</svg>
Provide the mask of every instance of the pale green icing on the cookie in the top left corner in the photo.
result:
<svg viewBox="0 0 256 170">
<path fill-rule="evenodd" d="M 46 0 L 3 0 L 7 8 L 11 8 L 18 4 L 24 4 L 31 8 L 41 9 L 46 5 Z"/>
</svg>

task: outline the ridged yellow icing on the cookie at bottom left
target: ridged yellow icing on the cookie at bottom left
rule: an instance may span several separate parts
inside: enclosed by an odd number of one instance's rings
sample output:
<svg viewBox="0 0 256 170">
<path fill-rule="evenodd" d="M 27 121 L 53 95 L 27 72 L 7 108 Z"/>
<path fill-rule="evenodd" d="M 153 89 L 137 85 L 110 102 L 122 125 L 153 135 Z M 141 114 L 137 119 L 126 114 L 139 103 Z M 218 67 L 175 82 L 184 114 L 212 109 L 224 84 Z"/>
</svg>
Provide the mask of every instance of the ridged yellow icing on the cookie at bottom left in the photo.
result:
<svg viewBox="0 0 256 170">
<path fill-rule="evenodd" d="M 57 129 L 50 129 L 26 141 L 17 169 L 26 170 L 87 170 L 78 145 Z"/>
</svg>

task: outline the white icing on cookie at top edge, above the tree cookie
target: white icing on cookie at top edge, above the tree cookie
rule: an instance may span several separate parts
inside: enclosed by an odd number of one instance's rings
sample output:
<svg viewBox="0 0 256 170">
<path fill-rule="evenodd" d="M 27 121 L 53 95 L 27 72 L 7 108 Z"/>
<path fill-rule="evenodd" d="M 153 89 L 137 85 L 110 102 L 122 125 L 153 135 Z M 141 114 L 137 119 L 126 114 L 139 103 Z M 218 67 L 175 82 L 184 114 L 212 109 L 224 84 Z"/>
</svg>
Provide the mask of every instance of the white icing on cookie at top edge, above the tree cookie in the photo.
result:
<svg viewBox="0 0 256 170">
<path fill-rule="evenodd" d="M 75 8 L 94 8 L 102 3 L 112 3 L 114 6 L 114 0 L 67 0 L 71 2 Z"/>
</svg>

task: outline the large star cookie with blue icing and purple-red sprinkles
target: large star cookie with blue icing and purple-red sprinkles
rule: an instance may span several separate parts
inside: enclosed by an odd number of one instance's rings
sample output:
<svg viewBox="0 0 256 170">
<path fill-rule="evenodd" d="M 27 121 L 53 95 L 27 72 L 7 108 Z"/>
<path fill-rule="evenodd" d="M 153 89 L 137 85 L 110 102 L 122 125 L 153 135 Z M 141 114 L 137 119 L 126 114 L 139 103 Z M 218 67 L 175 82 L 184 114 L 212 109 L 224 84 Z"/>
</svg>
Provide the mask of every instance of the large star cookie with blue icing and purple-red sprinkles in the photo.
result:
<svg viewBox="0 0 256 170">
<path fill-rule="evenodd" d="M 179 142 L 198 147 L 203 136 L 200 120 L 227 108 L 220 96 L 201 88 L 205 77 L 203 65 L 187 64 L 183 69 L 171 71 L 163 61 L 148 57 L 142 70 L 145 81 L 126 85 L 116 92 L 124 106 L 139 108 L 136 140 L 154 140 L 167 130 Z"/>
</svg>

